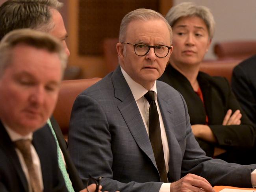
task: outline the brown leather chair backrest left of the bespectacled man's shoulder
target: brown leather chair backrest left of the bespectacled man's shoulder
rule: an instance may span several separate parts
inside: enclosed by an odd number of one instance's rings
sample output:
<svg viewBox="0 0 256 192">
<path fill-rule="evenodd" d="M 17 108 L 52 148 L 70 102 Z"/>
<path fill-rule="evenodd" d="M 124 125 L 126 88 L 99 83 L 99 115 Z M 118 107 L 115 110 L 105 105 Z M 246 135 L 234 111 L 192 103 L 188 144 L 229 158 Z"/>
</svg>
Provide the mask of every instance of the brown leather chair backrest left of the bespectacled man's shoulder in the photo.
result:
<svg viewBox="0 0 256 192">
<path fill-rule="evenodd" d="M 69 132 L 70 114 L 76 96 L 100 79 L 101 78 L 77 79 L 61 82 L 59 98 L 53 115 L 57 120 L 64 137 L 66 137 Z"/>
</svg>

